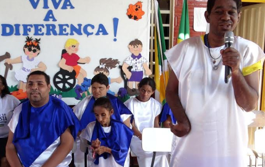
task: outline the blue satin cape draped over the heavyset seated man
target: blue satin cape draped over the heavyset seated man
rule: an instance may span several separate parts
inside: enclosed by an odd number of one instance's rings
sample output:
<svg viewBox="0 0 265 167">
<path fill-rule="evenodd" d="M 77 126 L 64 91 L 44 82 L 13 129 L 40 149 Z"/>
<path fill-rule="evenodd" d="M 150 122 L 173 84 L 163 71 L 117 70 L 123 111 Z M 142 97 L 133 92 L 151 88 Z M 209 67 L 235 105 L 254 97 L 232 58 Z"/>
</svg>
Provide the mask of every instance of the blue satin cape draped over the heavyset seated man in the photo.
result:
<svg viewBox="0 0 265 167">
<path fill-rule="evenodd" d="M 24 101 L 19 114 L 13 144 L 22 164 L 29 167 L 69 127 L 74 139 L 80 122 L 67 104 L 56 97 L 42 107 L 32 107 Z"/>
</svg>

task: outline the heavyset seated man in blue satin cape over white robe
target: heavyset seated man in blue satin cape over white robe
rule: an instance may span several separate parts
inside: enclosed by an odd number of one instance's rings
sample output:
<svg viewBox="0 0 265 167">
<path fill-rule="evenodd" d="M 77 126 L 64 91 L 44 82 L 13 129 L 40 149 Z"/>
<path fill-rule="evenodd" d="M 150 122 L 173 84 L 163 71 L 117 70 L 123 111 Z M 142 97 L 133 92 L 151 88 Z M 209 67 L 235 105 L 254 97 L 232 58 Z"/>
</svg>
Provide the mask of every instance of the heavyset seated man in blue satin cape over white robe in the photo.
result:
<svg viewBox="0 0 265 167">
<path fill-rule="evenodd" d="M 66 167 L 80 128 L 72 109 L 49 96 L 49 76 L 34 71 L 27 79 L 28 100 L 14 110 L 8 126 L 6 158 L 16 167 Z"/>
</svg>

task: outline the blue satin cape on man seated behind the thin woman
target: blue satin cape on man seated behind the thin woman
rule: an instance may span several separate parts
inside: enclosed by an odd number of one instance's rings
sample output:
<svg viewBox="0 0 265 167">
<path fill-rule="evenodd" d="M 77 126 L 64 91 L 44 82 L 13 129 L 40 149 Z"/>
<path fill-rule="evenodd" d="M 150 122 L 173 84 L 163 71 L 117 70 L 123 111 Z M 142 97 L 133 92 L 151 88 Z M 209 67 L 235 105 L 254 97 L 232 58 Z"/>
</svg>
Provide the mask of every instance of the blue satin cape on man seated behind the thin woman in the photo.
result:
<svg viewBox="0 0 265 167">
<path fill-rule="evenodd" d="M 132 114 L 132 112 L 117 97 L 109 93 L 107 93 L 107 97 L 111 101 L 111 106 L 113 107 L 114 110 L 114 113 L 111 115 L 111 118 L 122 122 L 121 118 L 122 114 Z M 95 97 L 91 97 L 80 120 L 81 123 L 80 131 L 86 128 L 90 122 L 96 121 L 96 117 L 93 111 L 94 103 L 95 103 Z M 133 114 L 131 117 L 131 121 L 132 120 L 133 120 Z"/>
</svg>

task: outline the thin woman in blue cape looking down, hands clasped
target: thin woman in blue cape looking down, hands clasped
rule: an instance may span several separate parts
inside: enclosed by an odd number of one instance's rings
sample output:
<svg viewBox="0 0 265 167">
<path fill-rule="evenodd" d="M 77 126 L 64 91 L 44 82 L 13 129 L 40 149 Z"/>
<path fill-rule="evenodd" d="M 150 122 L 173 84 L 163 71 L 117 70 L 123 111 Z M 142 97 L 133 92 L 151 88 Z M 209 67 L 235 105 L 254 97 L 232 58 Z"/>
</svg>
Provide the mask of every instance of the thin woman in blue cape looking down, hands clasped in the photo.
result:
<svg viewBox="0 0 265 167">
<path fill-rule="evenodd" d="M 91 122 L 80 134 L 84 145 L 91 148 L 92 167 L 123 167 L 129 160 L 129 147 L 133 131 L 120 121 L 111 118 L 113 108 L 108 97 L 100 97 L 94 103 L 96 121 Z"/>
</svg>

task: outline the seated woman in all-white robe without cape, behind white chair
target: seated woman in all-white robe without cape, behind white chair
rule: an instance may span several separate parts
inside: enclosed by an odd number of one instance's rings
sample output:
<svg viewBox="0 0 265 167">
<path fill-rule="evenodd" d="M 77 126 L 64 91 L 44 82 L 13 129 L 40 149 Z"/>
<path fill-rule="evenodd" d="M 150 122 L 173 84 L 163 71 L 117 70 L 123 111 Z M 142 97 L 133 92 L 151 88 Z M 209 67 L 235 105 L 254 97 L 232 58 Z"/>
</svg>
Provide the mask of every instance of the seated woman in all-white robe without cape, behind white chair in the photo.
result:
<svg viewBox="0 0 265 167">
<path fill-rule="evenodd" d="M 137 156 L 139 167 L 150 167 L 153 152 L 143 151 L 142 131 L 144 128 L 160 128 L 161 104 L 151 97 L 156 89 L 156 84 L 152 78 L 143 78 L 138 88 L 140 95 L 130 98 L 124 103 L 134 115 L 132 123 L 134 136 L 130 147 L 131 151 Z M 165 152 L 157 152 L 154 167 L 168 167 Z"/>
</svg>

